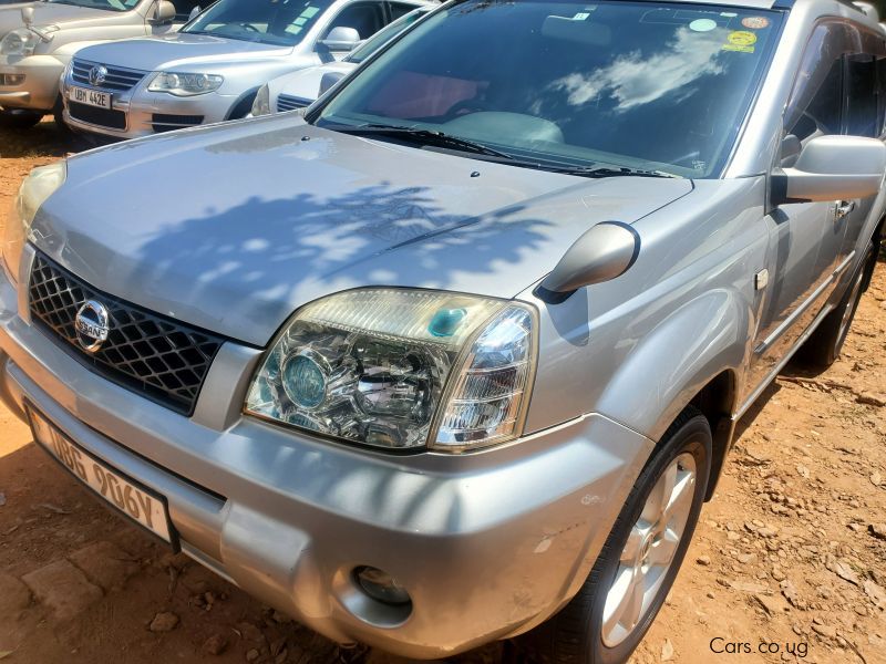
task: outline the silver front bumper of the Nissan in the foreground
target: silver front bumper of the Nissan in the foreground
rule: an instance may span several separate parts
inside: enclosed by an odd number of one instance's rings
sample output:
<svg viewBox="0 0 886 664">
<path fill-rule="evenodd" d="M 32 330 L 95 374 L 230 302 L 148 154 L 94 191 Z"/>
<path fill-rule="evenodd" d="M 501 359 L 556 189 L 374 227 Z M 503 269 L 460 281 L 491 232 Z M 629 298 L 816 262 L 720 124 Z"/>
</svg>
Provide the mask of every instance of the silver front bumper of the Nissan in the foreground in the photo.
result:
<svg viewBox="0 0 886 664">
<path fill-rule="evenodd" d="M 193 417 L 177 415 L 62 351 L 0 272 L 0 397 L 166 496 L 186 553 L 339 642 L 431 658 L 540 623 L 580 587 L 652 448 L 590 415 L 461 457 L 356 450 L 241 417 L 257 360 L 226 344 Z M 364 564 L 411 611 L 362 594 Z"/>
</svg>

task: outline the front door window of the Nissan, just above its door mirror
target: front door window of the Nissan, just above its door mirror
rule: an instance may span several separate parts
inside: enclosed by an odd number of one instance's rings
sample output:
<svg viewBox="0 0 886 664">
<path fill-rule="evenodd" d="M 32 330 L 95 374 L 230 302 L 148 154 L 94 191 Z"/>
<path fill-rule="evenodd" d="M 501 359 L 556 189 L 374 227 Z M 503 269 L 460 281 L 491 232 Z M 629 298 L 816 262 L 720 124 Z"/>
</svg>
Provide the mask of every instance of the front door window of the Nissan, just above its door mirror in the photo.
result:
<svg viewBox="0 0 886 664">
<path fill-rule="evenodd" d="M 845 35 L 845 25 L 825 23 L 815 29 L 806 46 L 784 115 L 785 136 L 796 136 L 801 145 L 816 136 L 841 133 Z M 792 154 L 783 154 L 783 159 L 795 157 L 796 147 Z"/>
</svg>

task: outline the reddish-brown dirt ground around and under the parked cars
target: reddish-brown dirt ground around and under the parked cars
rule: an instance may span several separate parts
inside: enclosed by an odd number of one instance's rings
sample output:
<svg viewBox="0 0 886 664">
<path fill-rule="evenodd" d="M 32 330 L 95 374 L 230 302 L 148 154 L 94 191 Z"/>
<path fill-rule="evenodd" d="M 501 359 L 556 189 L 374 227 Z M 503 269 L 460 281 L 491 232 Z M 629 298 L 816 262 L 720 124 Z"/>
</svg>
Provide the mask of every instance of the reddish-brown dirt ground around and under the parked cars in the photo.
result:
<svg viewBox="0 0 886 664">
<path fill-rule="evenodd" d="M 0 129 L 0 209 L 30 168 L 71 149 L 51 122 Z M 820 376 L 789 367 L 741 422 L 727 475 L 635 664 L 886 663 L 884 263 L 843 359 Z M 456 661 L 494 664 L 498 651 Z M 0 660 L 340 658 L 401 662 L 340 652 L 169 556 L 0 411 Z"/>
</svg>

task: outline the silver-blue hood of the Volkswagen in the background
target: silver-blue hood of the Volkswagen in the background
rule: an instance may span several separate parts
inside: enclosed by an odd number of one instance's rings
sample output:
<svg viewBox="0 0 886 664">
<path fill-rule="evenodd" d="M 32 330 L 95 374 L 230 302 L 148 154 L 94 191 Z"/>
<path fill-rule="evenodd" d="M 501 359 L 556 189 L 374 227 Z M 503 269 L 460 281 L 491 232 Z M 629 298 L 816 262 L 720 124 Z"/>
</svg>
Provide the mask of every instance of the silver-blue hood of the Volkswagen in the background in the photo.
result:
<svg viewBox="0 0 886 664">
<path fill-rule="evenodd" d="M 79 58 L 143 71 L 178 70 L 199 65 L 249 65 L 265 58 L 282 58 L 292 46 L 274 46 L 208 34 L 173 33 L 126 39 L 83 49 Z"/>
</svg>

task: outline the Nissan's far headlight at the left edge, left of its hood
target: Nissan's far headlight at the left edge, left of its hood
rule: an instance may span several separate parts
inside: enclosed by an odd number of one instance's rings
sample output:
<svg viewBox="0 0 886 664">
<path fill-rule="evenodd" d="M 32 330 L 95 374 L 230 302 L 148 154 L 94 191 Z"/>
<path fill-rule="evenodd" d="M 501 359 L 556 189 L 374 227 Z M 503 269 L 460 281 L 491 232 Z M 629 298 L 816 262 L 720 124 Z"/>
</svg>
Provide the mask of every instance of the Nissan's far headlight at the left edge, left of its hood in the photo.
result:
<svg viewBox="0 0 886 664">
<path fill-rule="evenodd" d="M 18 281 L 21 252 L 37 210 L 64 184 L 65 177 L 68 177 L 68 164 L 62 160 L 34 168 L 24 178 L 3 229 L 3 262 L 13 281 Z"/>
</svg>

